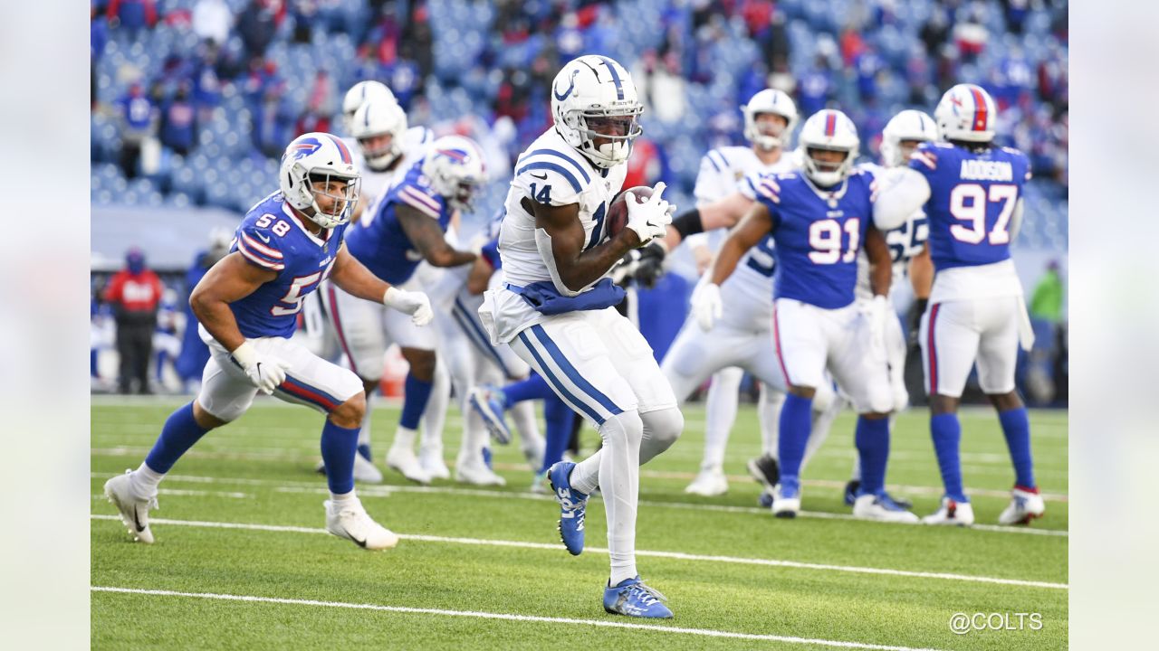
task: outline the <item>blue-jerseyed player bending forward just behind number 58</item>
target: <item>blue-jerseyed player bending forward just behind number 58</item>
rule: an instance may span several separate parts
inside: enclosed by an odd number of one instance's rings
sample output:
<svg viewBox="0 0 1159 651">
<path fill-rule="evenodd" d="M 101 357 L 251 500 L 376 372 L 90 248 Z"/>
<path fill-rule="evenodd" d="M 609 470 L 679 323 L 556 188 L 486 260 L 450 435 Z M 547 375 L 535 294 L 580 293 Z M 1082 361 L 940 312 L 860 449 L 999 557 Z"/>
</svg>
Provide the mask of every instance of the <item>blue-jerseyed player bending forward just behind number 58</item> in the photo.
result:
<svg viewBox="0 0 1159 651">
<path fill-rule="evenodd" d="M 452 248 L 444 234 L 454 211 L 471 210 L 472 197 L 482 182 L 482 154 L 472 140 L 458 136 L 436 140 L 373 212 L 350 228 L 350 254 L 379 277 L 415 291 L 422 286 L 416 271 L 424 261 L 439 268 L 469 264 L 475 254 Z M 436 332 L 416 328 L 333 284 L 322 288 L 322 299 L 338 344 L 367 393 L 382 378 L 382 356 L 389 342 L 402 350 L 410 370 L 386 465 L 413 482 L 430 483 L 431 474 L 420 465 L 414 447 L 435 380 Z M 369 418 L 363 426 L 370 426 Z"/>
</svg>

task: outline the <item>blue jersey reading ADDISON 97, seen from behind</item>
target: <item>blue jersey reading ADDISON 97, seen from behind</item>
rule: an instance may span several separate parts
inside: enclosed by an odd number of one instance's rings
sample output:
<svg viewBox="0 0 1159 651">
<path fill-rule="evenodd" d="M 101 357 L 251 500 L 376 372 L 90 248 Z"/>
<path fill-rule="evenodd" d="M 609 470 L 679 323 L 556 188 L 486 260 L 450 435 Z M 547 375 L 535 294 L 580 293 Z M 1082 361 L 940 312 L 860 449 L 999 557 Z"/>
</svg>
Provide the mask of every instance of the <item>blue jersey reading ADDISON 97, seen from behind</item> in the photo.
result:
<svg viewBox="0 0 1159 651">
<path fill-rule="evenodd" d="M 934 268 L 1009 259 L 1011 215 L 1030 178 L 1022 152 L 1008 147 L 972 152 L 948 142 L 923 142 L 910 168 L 930 183 L 925 211 Z"/>
</svg>

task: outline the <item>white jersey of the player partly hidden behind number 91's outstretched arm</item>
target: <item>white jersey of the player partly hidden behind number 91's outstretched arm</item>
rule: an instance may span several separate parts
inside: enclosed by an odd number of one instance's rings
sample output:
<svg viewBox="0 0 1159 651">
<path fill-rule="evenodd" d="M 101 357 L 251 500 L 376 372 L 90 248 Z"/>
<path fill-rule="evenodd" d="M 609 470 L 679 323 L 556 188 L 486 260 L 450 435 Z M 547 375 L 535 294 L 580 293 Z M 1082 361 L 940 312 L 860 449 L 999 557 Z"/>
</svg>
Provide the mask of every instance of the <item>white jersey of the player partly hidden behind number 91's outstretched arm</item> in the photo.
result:
<svg viewBox="0 0 1159 651">
<path fill-rule="evenodd" d="M 739 191 L 756 200 L 753 182 L 760 174 L 778 174 L 796 169 L 793 156 L 781 154 L 773 164 L 765 164 L 751 147 L 720 147 L 705 154 L 697 175 L 697 204 L 716 202 Z M 693 235 L 695 237 L 695 235 Z M 690 237 L 690 240 L 692 240 Z M 690 246 L 695 244 L 695 240 Z M 714 247 L 715 248 L 715 247 Z M 737 269 L 721 287 L 724 320 L 746 329 L 767 329 L 773 310 L 773 241 L 765 237 L 737 263 Z"/>
</svg>

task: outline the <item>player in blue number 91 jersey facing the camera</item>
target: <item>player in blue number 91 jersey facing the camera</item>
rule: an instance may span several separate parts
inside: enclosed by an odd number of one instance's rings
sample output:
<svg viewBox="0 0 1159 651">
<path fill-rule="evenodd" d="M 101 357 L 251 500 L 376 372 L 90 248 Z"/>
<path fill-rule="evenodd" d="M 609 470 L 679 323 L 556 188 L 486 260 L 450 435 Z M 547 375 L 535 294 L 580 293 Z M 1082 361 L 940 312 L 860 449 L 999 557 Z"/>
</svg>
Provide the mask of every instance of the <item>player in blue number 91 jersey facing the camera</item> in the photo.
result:
<svg viewBox="0 0 1159 651">
<path fill-rule="evenodd" d="M 799 138 L 802 170 L 758 181 L 758 203 L 724 241 L 693 303 L 698 312 L 719 316 L 720 284 L 745 251 L 772 234 L 778 251 L 773 344 L 789 386 L 780 415 L 773 513 L 792 518 L 800 510 L 810 411 L 828 370 L 860 415 L 855 440 L 862 478 L 854 515 L 917 522 L 916 515 L 881 498 L 892 410 L 883 344 L 892 273 L 882 232 L 901 226 L 921 202 L 905 196 L 882 203 L 874 174 L 853 168 L 859 146 L 857 127 L 840 111 L 823 110 L 806 120 Z M 859 307 L 854 287 L 862 247 L 873 265 L 874 297 Z"/>
</svg>

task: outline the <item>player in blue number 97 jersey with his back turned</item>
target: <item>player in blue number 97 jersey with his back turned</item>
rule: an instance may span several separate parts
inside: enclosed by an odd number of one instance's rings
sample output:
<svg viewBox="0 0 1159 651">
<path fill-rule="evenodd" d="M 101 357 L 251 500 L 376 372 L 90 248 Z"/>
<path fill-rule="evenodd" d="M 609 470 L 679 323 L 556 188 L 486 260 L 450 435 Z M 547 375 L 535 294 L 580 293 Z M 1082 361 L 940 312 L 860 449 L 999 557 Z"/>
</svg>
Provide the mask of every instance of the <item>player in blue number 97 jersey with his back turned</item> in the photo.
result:
<svg viewBox="0 0 1159 651">
<path fill-rule="evenodd" d="M 938 525 L 970 525 L 974 509 L 962 488 L 957 405 L 970 367 L 998 411 L 1014 489 L 999 524 L 1027 524 L 1045 510 L 1034 478 L 1030 423 L 1014 388 L 1019 344 L 1034 335 L 1009 243 L 1022 219 L 1022 186 L 1029 161 L 1018 149 L 994 146 L 998 112 L 982 88 L 960 83 L 942 95 L 934 119 L 942 141 L 924 144 L 910 159 L 917 192 L 928 193 L 933 290 L 921 319 L 921 358 L 930 394 L 930 432 L 946 495 L 925 518 Z"/>
</svg>

